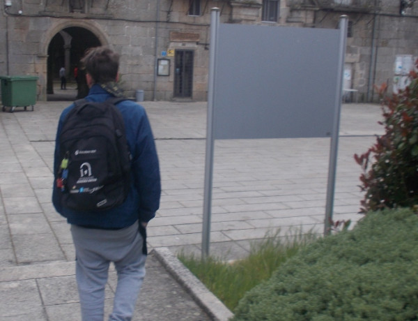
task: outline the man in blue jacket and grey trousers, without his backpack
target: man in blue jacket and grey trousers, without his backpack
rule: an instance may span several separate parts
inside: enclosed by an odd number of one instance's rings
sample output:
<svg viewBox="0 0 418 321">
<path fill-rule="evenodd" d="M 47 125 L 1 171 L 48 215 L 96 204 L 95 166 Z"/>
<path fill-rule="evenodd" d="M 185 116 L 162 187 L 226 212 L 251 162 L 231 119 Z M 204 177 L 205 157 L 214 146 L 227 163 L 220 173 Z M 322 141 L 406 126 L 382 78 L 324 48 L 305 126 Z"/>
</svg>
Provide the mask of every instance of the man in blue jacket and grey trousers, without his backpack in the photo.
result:
<svg viewBox="0 0 418 321">
<path fill-rule="evenodd" d="M 95 47 L 82 59 L 90 91 L 86 100 L 103 102 L 121 97 L 118 88 L 119 56 L 107 47 Z M 60 135 L 72 104 L 63 110 L 56 133 L 54 190 L 56 211 L 71 224 L 76 252 L 76 278 L 83 321 L 104 320 L 104 288 L 109 263 L 114 262 L 118 285 L 109 320 L 131 320 L 145 275 L 146 246 L 144 228 L 160 205 L 160 169 L 153 133 L 141 105 L 131 100 L 116 104 L 120 110 L 130 154 L 130 190 L 125 201 L 102 211 L 77 211 L 63 205 L 56 174 L 63 168 Z M 62 184 L 62 181 L 61 181 Z M 141 230 L 141 234 L 139 234 Z"/>
</svg>

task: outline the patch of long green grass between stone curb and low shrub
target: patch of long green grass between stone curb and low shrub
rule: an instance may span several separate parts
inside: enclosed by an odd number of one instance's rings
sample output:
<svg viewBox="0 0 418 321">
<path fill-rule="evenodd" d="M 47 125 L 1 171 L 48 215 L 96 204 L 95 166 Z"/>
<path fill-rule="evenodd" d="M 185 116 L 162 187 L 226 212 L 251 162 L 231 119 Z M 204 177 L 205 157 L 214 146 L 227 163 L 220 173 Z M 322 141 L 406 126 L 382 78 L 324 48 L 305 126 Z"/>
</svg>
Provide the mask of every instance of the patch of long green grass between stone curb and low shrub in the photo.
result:
<svg viewBox="0 0 418 321">
<path fill-rule="evenodd" d="M 316 234 L 293 231 L 280 237 L 280 231 L 269 232 L 262 241 L 251 244 L 250 253 L 242 260 L 226 262 L 222 257 L 206 257 L 180 253 L 178 258 L 229 309 L 233 310 L 245 293 L 264 280 L 283 262 L 316 239 Z"/>
</svg>

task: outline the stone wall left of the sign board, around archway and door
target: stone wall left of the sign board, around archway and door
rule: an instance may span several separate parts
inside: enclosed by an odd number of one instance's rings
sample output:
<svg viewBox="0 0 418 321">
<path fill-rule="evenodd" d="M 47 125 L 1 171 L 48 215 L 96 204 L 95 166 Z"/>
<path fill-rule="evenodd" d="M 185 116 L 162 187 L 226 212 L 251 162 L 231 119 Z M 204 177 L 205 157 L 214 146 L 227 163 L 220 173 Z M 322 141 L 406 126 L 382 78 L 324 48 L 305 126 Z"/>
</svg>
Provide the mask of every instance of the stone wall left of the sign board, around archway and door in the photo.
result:
<svg viewBox="0 0 418 321">
<path fill-rule="evenodd" d="M 155 99 L 173 98 L 173 72 L 169 77 L 155 78 L 155 61 L 169 49 L 186 48 L 195 51 L 192 98 L 206 99 L 210 7 L 202 17 L 191 17 L 187 15 L 188 1 L 173 1 L 170 8 L 171 1 L 162 0 L 158 13 L 157 1 L 94 0 L 93 6 L 87 1 L 86 10 L 74 13 L 68 12 L 67 2 L 64 6 L 61 3 L 27 0 L 13 3 L 7 12 L 3 10 L 0 26 L 6 33 L 0 35 L 0 75 L 37 75 L 38 98 L 44 100 L 49 43 L 62 29 L 82 27 L 93 32 L 102 45 L 121 54 L 121 78 L 127 96 L 143 89 L 146 99 L 154 98 L 154 91 Z M 224 11 L 225 17 L 229 14 Z M 195 33 L 198 41 L 170 40 L 171 31 Z M 167 59 L 173 69 L 173 57 Z"/>
</svg>

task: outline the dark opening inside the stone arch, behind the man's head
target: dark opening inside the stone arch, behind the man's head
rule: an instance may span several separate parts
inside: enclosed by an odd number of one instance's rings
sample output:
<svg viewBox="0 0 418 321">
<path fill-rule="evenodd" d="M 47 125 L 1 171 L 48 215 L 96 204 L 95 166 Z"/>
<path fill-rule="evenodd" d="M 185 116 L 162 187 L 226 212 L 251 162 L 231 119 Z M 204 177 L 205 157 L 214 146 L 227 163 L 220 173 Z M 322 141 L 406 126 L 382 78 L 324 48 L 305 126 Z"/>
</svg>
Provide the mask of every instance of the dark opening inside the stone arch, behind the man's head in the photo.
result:
<svg viewBox="0 0 418 321">
<path fill-rule="evenodd" d="M 86 49 L 102 45 L 99 38 L 83 27 L 67 27 L 56 33 L 48 46 L 47 58 L 47 100 L 75 100 L 88 92 L 84 71 L 79 70 L 77 79 L 75 67 L 84 56 Z M 61 90 L 59 69 L 65 67 L 68 86 Z"/>
</svg>

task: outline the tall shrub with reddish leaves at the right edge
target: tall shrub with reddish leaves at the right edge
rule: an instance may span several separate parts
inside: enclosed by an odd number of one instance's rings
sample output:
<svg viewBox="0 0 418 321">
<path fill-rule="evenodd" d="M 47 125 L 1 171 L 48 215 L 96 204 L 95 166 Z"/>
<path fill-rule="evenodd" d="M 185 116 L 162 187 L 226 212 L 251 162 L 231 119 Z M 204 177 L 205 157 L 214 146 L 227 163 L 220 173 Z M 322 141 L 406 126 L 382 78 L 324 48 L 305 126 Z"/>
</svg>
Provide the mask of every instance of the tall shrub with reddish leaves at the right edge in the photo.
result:
<svg viewBox="0 0 418 321">
<path fill-rule="evenodd" d="M 362 166 L 360 177 L 362 212 L 418 204 L 418 76 L 410 73 L 411 83 L 385 101 L 382 124 L 385 135 L 377 138 L 366 153 L 355 154 Z M 387 89 L 380 87 L 381 94 Z"/>
</svg>

